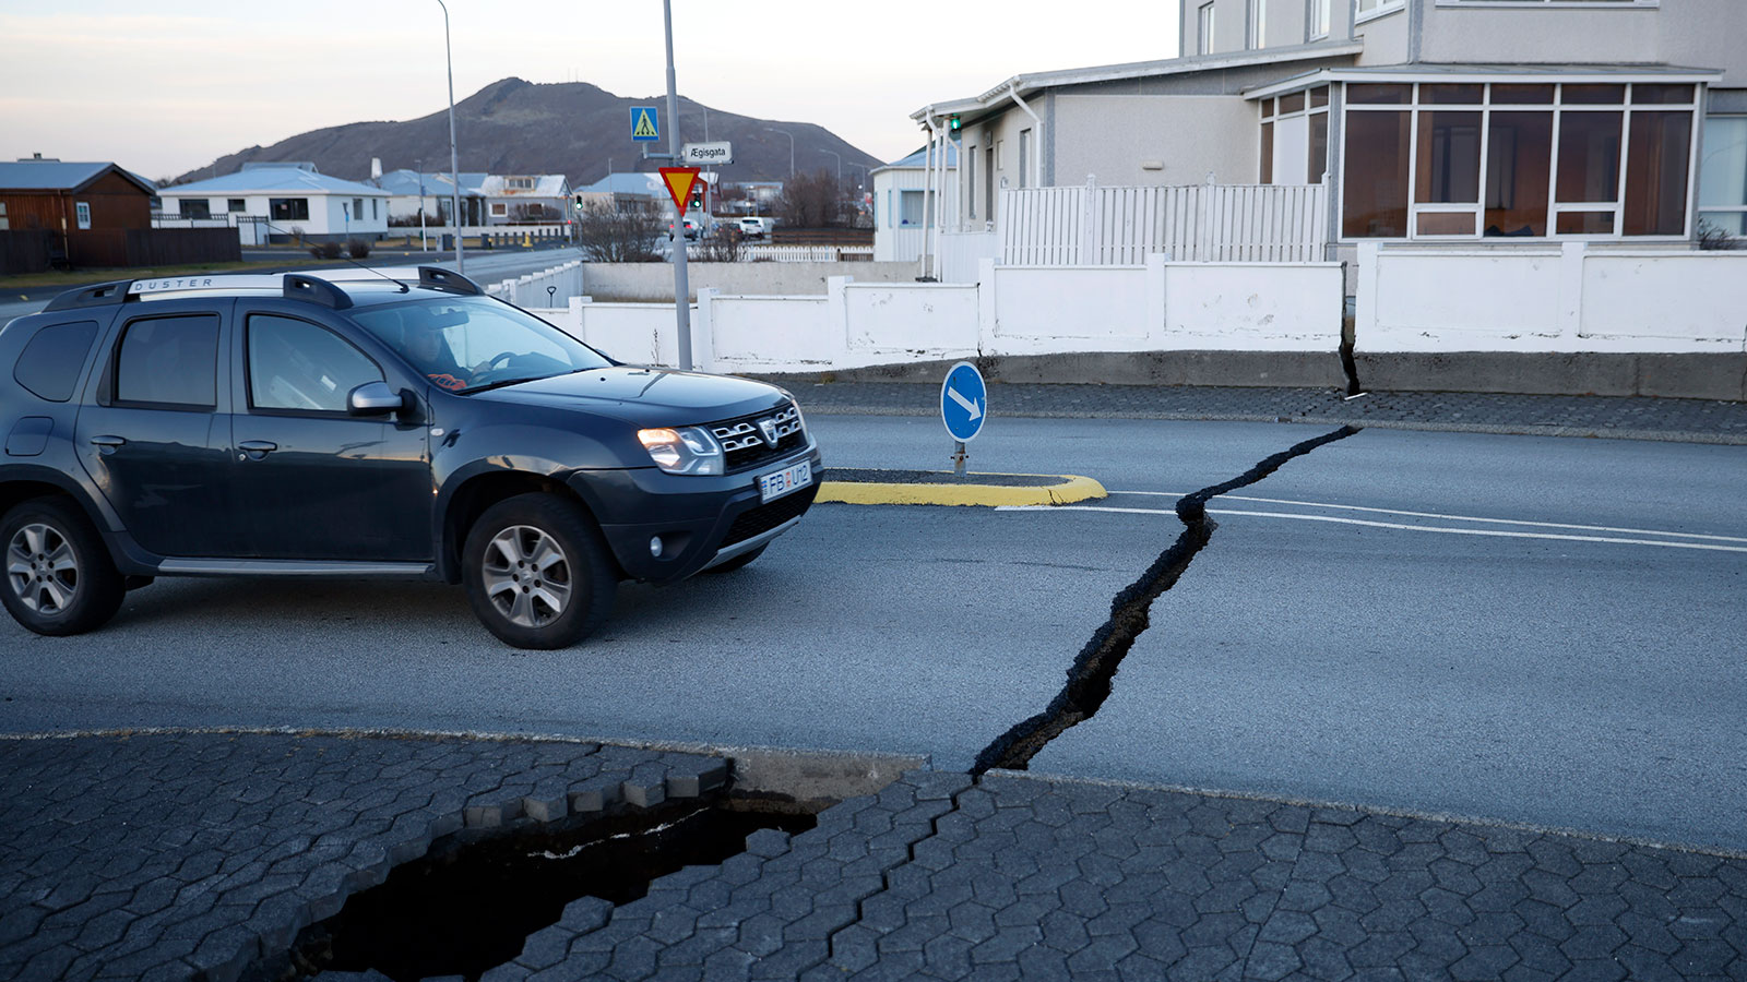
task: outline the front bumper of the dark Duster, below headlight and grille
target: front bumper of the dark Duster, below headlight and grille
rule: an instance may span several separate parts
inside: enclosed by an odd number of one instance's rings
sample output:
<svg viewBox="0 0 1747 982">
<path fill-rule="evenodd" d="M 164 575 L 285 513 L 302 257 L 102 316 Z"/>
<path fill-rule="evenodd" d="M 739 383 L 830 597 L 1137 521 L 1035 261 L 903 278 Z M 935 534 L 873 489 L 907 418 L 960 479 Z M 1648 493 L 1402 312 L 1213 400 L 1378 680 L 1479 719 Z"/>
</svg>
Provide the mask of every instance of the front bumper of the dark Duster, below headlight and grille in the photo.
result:
<svg viewBox="0 0 1747 982">
<path fill-rule="evenodd" d="M 812 465 L 812 484 L 760 501 L 758 475 Z M 578 472 L 571 489 L 594 510 L 601 535 L 632 580 L 671 584 L 715 563 L 758 549 L 793 528 L 819 493 L 818 444 L 762 467 L 722 477 L 666 474 L 655 467 Z M 660 556 L 650 540 L 660 538 Z"/>
</svg>

